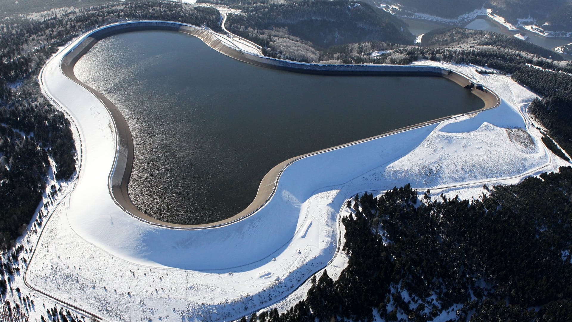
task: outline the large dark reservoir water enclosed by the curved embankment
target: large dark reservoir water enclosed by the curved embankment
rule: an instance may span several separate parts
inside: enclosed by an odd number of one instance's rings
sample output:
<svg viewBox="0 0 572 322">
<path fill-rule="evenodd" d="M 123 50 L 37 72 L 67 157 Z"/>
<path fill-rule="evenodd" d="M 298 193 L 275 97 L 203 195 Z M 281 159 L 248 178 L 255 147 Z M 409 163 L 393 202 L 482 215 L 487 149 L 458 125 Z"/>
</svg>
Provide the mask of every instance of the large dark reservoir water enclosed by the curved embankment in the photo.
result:
<svg viewBox="0 0 572 322">
<path fill-rule="evenodd" d="M 172 223 L 237 214 L 293 156 L 484 105 L 443 78 L 283 72 L 164 31 L 105 38 L 74 71 L 129 124 L 133 203 Z"/>
</svg>

